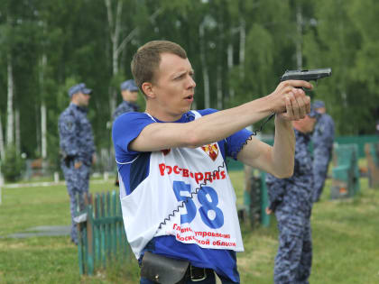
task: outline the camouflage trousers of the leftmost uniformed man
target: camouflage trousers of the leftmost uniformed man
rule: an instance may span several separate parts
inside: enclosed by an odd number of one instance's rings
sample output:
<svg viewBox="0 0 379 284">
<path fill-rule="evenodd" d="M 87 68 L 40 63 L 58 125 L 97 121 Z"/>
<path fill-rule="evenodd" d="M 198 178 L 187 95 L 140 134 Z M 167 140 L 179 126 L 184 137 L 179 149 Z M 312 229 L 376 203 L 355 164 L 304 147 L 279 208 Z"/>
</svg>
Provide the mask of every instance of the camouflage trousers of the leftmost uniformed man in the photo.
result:
<svg viewBox="0 0 379 284">
<path fill-rule="evenodd" d="M 66 179 L 67 191 L 69 193 L 69 211 L 71 213 L 71 241 L 78 244 L 77 223 L 74 221 L 76 212 L 84 208 L 84 193 L 88 192 L 88 181 L 90 167 L 82 164 L 79 169 L 74 169 L 73 164 L 67 167 L 61 165 L 64 179 Z M 76 196 L 79 196 L 79 204 Z"/>
</svg>

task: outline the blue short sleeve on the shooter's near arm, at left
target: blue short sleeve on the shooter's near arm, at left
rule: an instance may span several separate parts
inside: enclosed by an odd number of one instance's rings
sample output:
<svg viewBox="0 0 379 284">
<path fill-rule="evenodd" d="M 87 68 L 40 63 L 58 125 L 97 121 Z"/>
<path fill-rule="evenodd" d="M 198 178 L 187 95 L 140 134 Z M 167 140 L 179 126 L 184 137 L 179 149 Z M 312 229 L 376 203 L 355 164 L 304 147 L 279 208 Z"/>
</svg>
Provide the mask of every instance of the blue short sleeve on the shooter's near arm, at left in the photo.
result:
<svg viewBox="0 0 379 284">
<path fill-rule="evenodd" d="M 155 123 L 144 113 L 126 113 L 116 118 L 112 127 L 112 140 L 115 147 L 115 156 L 118 163 L 129 162 L 138 154 L 129 149 L 132 142 L 149 124 Z"/>
</svg>

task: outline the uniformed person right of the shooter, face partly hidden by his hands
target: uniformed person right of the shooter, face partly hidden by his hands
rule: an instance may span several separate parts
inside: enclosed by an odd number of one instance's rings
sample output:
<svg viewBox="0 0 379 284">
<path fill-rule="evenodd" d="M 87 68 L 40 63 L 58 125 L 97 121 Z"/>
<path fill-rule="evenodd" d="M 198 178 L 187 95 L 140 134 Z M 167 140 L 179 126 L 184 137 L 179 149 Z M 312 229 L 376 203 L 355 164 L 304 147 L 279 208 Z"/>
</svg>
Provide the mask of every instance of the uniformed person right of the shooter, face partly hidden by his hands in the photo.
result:
<svg viewBox="0 0 379 284">
<path fill-rule="evenodd" d="M 270 206 L 278 221 L 279 248 L 274 261 L 275 284 L 309 283 L 312 263 L 310 213 L 312 208 L 313 173 L 309 151 L 310 133 L 318 114 L 311 110 L 305 118 L 292 122 L 295 137 L 295 164 L 289 179 L 267 174 Z"/>
</svg>

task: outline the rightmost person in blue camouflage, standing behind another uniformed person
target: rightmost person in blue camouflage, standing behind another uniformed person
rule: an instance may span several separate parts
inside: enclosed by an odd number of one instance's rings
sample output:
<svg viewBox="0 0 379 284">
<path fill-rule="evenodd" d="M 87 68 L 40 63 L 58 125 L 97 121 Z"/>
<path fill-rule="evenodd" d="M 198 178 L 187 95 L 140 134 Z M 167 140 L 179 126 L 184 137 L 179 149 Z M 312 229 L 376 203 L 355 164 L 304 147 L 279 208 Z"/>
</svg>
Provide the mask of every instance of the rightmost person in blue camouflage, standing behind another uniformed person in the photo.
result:
<svg viewBox="0 0 379 284">
<path fill-rule="evenodd" d="M 326 114 L 324 102 L 315 101 L 313 108 L 320 114 L 319 120 L 313 132 L 313 202 L 318 202 L 328 175 L 328 165 L 332 157 L 334 142 L 334 122 L 330 115 Z"/>
</svg>

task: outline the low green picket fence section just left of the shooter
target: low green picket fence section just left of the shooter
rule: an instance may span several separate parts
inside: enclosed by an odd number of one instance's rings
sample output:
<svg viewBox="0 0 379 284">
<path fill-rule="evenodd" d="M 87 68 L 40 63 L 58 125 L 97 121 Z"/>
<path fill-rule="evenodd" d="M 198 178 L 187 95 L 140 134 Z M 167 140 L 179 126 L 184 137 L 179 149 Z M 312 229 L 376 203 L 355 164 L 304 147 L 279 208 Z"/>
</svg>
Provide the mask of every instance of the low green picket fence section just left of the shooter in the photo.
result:
<svg viewBox="0 0 379 284">
<path fill-rule="evenodd" d="M 93 275 L 112 261 L 131 259 L 126 240 L 121 204 L 116 191 L 86 194 L 85 207 L 77 213 L 79 231 L 79 272 Z"/>
</svg>

